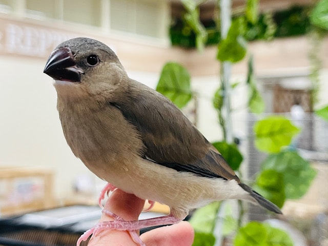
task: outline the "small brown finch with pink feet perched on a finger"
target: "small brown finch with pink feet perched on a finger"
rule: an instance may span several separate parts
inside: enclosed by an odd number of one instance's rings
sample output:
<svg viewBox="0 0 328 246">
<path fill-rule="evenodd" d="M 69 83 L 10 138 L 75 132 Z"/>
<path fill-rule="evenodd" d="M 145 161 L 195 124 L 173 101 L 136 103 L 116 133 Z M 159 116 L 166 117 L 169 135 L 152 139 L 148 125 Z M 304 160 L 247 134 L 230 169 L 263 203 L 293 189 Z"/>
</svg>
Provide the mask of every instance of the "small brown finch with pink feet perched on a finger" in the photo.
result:
<svg viewBox="0 0 328 246">
<path fill-rule="evenodd" d="M 281 214 L 240 181 L 167 97 L 130 78 L 106 44 L 69 39 L 50 54 L 44 73 L 54 79 L 61 127 L 74 155 L 111 188 L 170 207 L 169 215 L 146 220 L 113 215 L 103 228 L 177 223 L 190 210 L 223 199 L 248 200 Z"/>
</svg>

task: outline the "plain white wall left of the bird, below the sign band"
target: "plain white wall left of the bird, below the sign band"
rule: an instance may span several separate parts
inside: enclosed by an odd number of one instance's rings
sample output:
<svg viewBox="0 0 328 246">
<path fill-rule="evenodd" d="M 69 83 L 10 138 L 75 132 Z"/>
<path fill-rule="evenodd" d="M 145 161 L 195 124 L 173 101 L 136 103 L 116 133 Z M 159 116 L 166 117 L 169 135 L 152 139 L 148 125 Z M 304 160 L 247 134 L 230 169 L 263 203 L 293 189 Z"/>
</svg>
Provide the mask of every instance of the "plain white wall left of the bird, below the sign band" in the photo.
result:
<svg viewBox="0 0 328 246">
<path fill-rule="evenodd" d="M 88 171 L 66 144 L 44 65 L 42 59 L 0 57 L 0 166 L 50 168 L 55 194 L 63 197 L 74 177 Z"/>
</svg>

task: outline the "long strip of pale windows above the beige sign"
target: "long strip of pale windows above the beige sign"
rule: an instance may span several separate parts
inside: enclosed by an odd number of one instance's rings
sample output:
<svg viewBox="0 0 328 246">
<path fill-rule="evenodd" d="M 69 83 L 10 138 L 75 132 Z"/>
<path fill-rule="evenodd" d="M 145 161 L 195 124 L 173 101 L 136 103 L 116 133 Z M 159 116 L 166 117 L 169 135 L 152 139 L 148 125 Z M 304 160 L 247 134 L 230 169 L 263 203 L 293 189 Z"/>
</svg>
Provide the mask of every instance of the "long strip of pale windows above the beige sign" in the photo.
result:
<svg viewBox="0 0 328 246">
<path fill-rule="evenodd" d="M 167 0 L 0 0 L 1 12 L 152 37 L 167 36 L 169 19 Z"/>
</svg>

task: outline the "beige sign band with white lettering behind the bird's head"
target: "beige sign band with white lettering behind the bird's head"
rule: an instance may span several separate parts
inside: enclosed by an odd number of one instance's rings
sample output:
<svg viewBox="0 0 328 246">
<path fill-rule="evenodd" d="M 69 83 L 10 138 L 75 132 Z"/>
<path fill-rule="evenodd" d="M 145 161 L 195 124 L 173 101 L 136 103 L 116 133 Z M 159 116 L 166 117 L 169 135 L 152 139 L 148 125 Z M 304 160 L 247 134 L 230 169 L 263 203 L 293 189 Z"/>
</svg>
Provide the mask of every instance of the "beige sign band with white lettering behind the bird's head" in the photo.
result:
<svg viewBox="0 0 328 246">
<path fill-rule="evenodd" d="M 175 57 L 183 60 L 183 51 L 166 45 L 151 45 L 139 42 L 131 35 L 109 35 L 108 30 L 92 26 L 55 22 L 54 20 L 32 20 L 0 13 L 0 56 L 27 56 L 47 59 L 60 43 L 74 37 L 90 37 L 107 44 L 127 70 L 160 72 L 162 65 Z M 135 42 L 137 40 L 137 42 Z M 140 39 L 141 40 L 141 39 Z M 142 61 L 142 62 L 140 62 Z M 194 71 L 194 70 L 193 70 Z"/>
</svg>

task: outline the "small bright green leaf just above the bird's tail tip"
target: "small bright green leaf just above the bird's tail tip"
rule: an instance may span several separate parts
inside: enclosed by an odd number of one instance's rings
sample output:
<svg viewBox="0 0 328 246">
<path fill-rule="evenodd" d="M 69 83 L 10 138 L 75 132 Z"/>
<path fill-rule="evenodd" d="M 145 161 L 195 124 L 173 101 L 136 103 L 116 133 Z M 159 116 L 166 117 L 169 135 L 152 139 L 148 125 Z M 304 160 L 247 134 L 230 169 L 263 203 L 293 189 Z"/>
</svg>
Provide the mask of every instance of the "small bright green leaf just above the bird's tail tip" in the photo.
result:
<svg viewBox="0 0 328 246">
<path fill-rule="evenodd" d="M 281 173 L 273 169 L 262 171 L 257 176 L 253 189 L 282 208 L 285 201 L 285 186 Z"/>
</svg>

